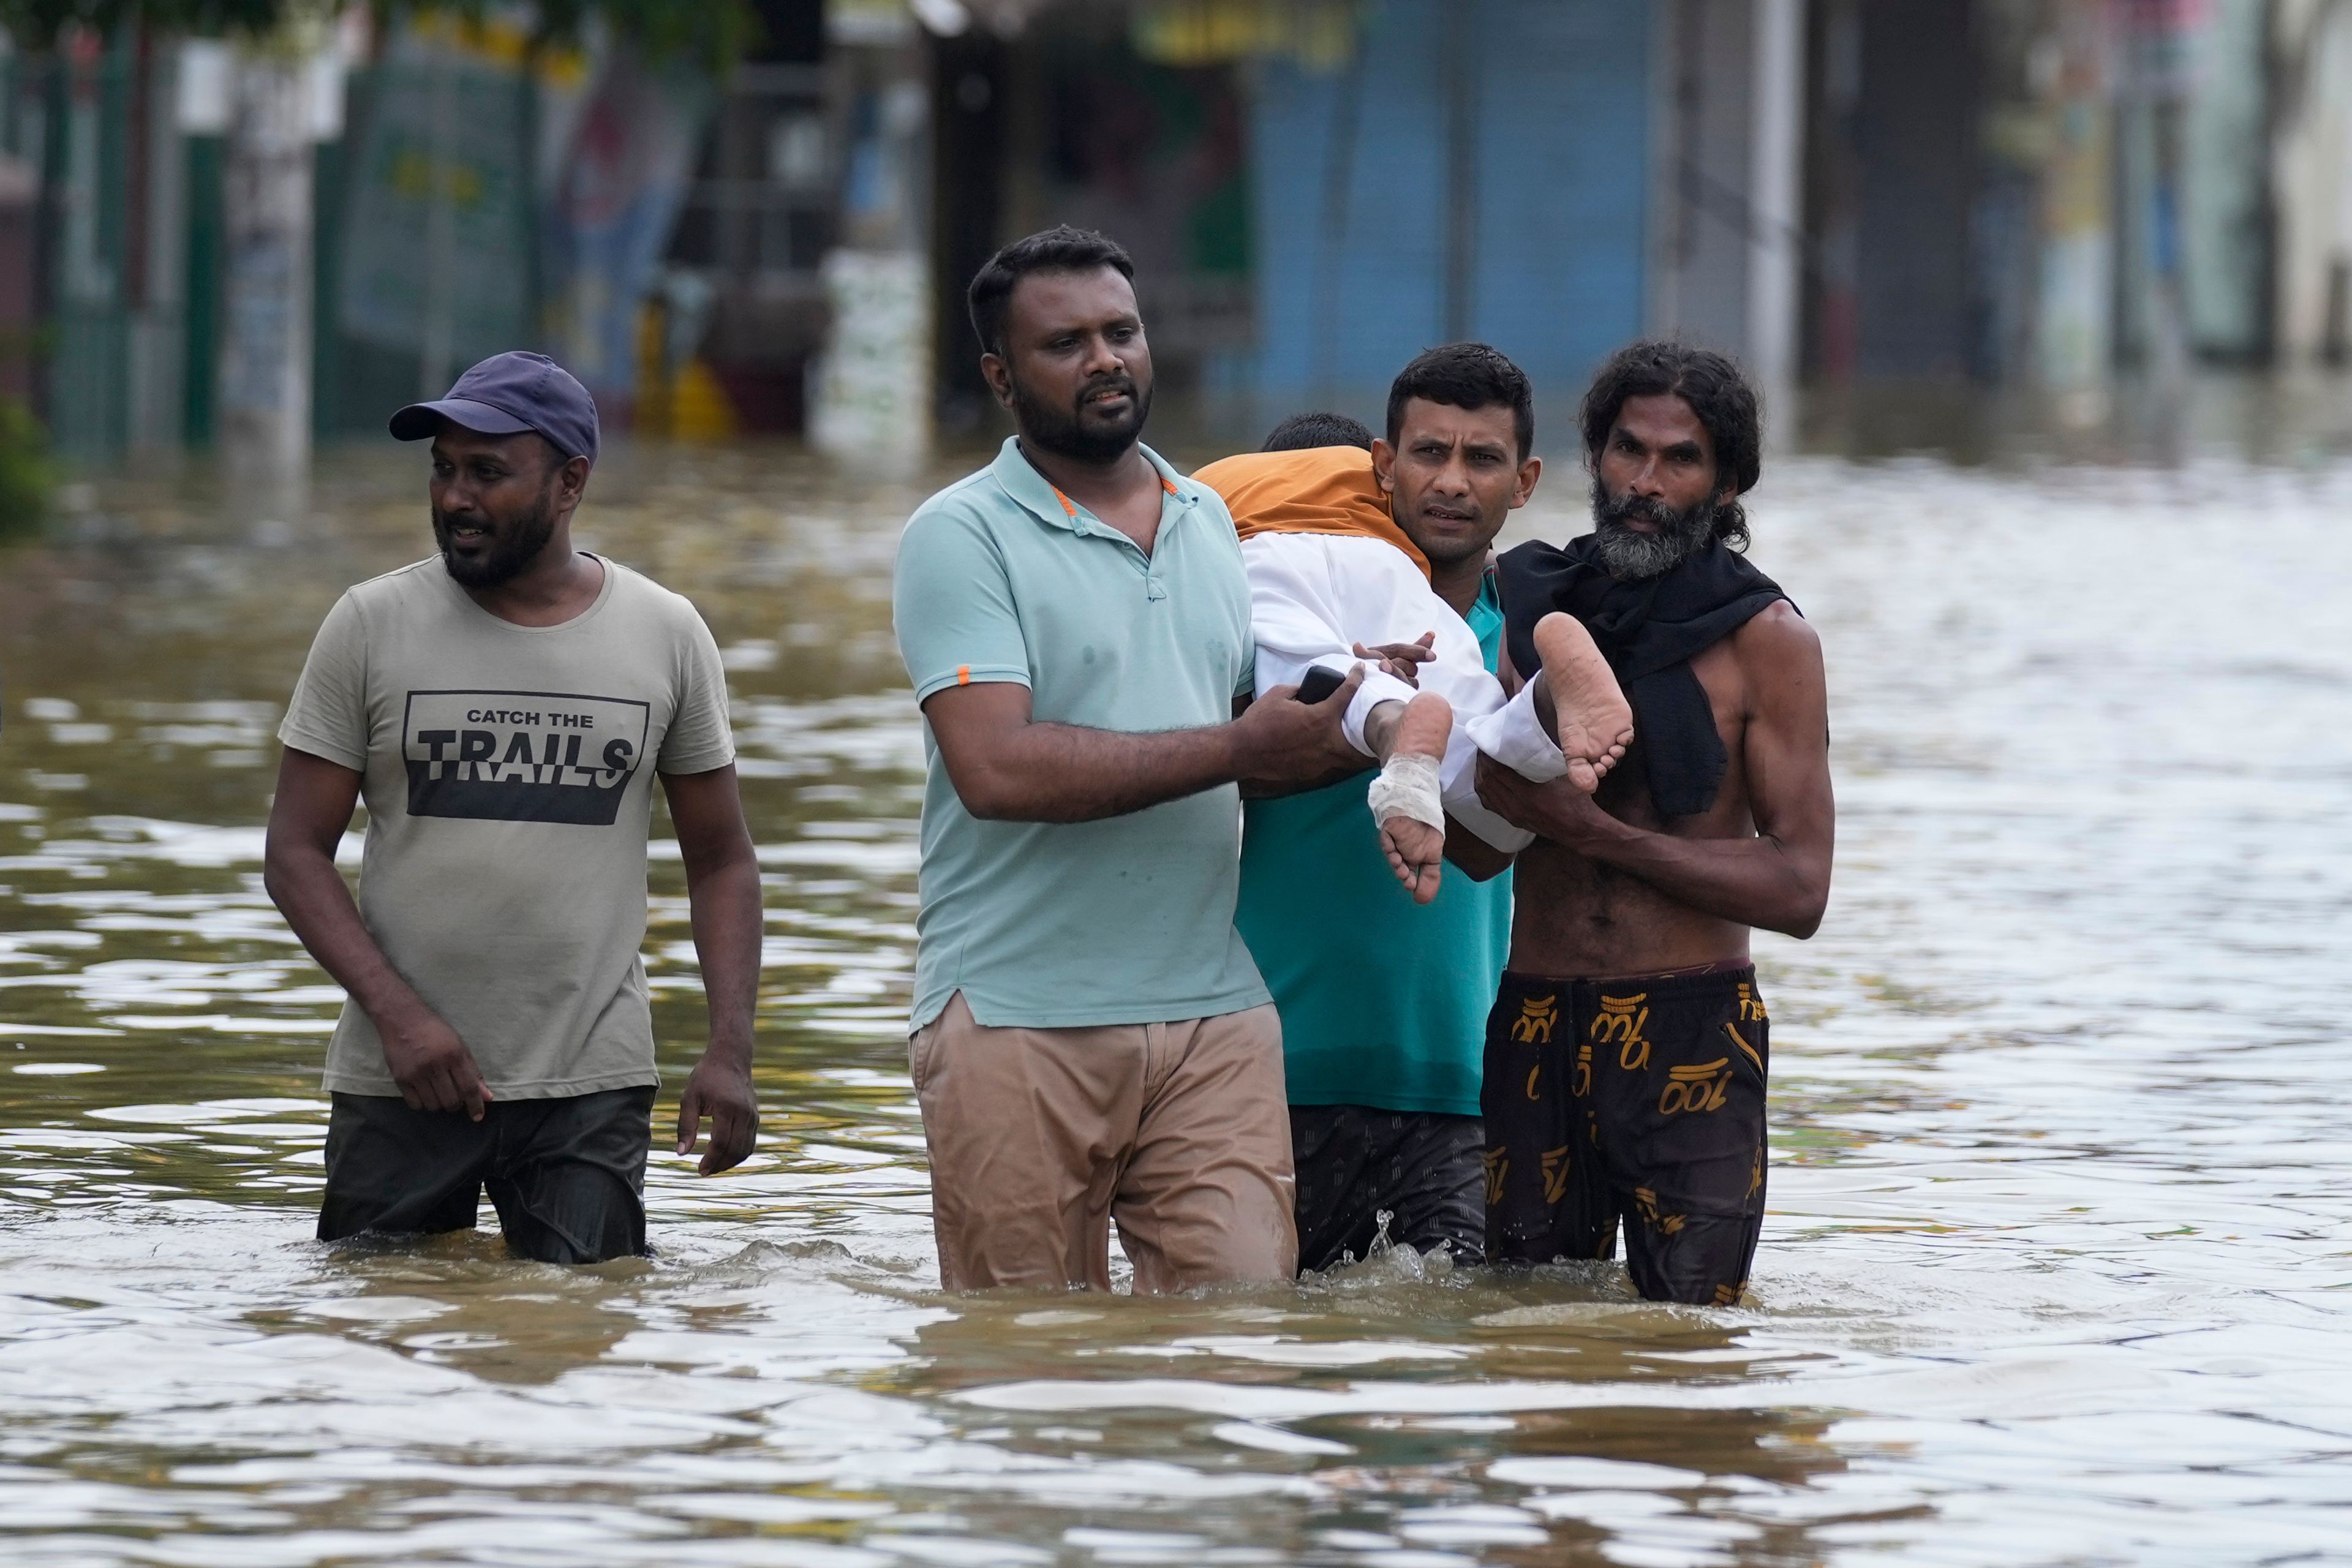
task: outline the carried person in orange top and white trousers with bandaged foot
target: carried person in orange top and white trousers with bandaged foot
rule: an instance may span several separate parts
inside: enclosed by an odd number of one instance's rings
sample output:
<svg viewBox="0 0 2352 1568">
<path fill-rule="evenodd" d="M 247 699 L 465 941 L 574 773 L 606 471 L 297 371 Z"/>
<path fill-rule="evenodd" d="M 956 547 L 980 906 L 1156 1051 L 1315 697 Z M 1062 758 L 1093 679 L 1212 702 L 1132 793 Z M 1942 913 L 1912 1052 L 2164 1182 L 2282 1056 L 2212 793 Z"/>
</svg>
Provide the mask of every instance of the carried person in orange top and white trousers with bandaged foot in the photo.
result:
<svg viewBox="0 0 2352 1568">
<path fill-rule="evenodd" d="M 1348 743 L 1381 764 L 1367 804 L 1418 903 L 1437 896 L 1449 816 L 1505 853 L 1531 842 L 1479 802 L 1479 752 L 1588 792 L 1625 755 L 1632 708 L 1573 616 L 1536 625 L 1543 672 L 1505 701 L 1470 625 L 1430 590 L 1428 559 L 1362 447 L 1249 451 L 1192 477 L 1223 496 L 1242 536 L 1256 696 L 1317 668 L 1345 675 L 1378 644 L 1428 646 L 1418 686 L 1371 668 L 1345 715 Z"/>
</svg>

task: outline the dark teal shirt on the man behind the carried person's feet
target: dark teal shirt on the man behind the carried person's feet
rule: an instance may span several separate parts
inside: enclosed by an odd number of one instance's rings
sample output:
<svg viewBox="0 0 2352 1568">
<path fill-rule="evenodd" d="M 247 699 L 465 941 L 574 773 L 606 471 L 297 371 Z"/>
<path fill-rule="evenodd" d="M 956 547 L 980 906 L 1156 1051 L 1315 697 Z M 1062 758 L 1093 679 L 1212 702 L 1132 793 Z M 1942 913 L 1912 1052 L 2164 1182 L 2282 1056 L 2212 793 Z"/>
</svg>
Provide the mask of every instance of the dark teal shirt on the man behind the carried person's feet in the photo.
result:
<svg viewBox="0 0 2352 1568">
<path fill-rule="evenodd" d="M 1503 646 L 1494 576 L 1465 616 L 1486 668 Z M 1446 865 L 1416 905 L 1381 853 L 1367 778 L 1254 799 L 1235 924 L 1282 1011 L 1291 1105 L 1475 1117 L 1486 1011 L 1510 959 L 1510 872 Z"/>
</svg>

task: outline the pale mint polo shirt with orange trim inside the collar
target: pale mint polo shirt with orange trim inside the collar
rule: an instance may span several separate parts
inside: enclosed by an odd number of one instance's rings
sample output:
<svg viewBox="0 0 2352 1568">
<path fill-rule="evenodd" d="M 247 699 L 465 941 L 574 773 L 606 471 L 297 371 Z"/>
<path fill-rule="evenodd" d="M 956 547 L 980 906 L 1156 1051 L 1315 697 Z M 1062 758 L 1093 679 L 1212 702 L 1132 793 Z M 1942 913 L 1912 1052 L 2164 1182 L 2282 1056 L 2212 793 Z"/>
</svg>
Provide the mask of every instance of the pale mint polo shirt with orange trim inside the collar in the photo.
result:
<svg viewBox="0 0 2352 1568">
<path fill-rule="evenodd" d="M 898 538 L 891 614 L 915 701 L 1018 682 L 1030 717 L 1087 729 L 1232 719 L 1254 677 L 1249 581 L 1216 491 L 1160 454 L 1145 555 L 1065 501 L 1016 440 L 924 501 Z M 983 1025 L 1214 1018 L 1268 1001 L 1232 929 L 1242 804 L 1232 785 L 1101 823 L 983 823 L 922 729 L 922 912 L 915 1011 L 955 992 Z"/>
</svg>

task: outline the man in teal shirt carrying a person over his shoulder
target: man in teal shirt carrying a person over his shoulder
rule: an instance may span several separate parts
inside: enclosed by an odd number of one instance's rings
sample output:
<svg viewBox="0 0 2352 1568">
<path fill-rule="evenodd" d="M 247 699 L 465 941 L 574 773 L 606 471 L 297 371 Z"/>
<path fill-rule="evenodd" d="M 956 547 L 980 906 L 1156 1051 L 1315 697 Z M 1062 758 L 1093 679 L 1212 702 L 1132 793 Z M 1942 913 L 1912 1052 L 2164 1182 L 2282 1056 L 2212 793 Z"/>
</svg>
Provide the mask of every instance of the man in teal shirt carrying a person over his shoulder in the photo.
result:
<svg viewBox="0 0 2352 1568">
<path fill-rule="evenodd" d="M 1526 376 L 1484 343 L 1449 343 L 1397 376 L 1388 440 L 1334 418 L 1287 421 L 1268 451 L 1369 444 L 1390 515 L 1428 557 L 1430 588 L 1494 670 L 1494 536 L 1543 473 L 1529 454 Z M 1505 856 L 1451 825 L 1446 858 L 1470 875 L 1449 872 L 1437 898 L 1416 905 L 1397 898 L 1362 780 L 1247 804 L 1235 924 L 1282 1011 L 1301 1267 L 1364 1258 L 1383 1211 L 1390 1241 L 1484 1262 L 1479 1079 L 1510 957 L 1510 872 Z"/>
</svg>

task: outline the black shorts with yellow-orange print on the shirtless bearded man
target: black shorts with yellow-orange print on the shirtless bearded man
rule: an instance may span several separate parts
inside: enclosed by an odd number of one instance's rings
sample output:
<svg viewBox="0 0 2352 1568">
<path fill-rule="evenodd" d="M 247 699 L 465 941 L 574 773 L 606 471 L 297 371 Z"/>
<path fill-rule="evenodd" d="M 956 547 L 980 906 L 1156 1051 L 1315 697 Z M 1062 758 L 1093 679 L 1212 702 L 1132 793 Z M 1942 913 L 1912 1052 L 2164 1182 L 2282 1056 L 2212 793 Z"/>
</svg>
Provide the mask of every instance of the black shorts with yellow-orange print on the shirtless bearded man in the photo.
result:
<svg viewBox="0 0 2352 1568">
<path fill-rule="evenodd" d="M 1649 1300 L 1731 1305 L 1764 1227 L 1771 1025 L 1755 969 L 1505 973 L 1486 1018 L 1486 1253 L 1611 1258 Z"/>
</svg>

